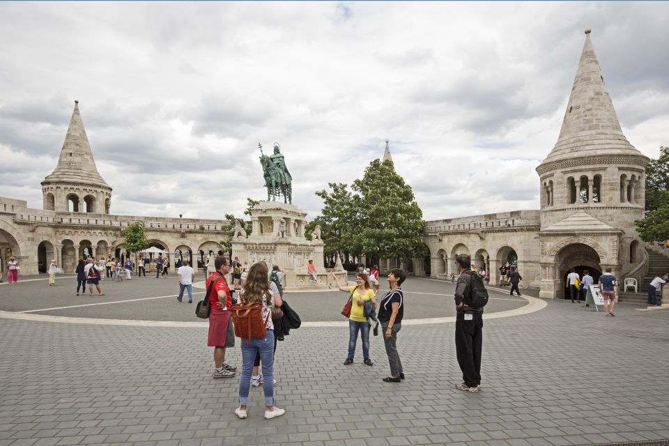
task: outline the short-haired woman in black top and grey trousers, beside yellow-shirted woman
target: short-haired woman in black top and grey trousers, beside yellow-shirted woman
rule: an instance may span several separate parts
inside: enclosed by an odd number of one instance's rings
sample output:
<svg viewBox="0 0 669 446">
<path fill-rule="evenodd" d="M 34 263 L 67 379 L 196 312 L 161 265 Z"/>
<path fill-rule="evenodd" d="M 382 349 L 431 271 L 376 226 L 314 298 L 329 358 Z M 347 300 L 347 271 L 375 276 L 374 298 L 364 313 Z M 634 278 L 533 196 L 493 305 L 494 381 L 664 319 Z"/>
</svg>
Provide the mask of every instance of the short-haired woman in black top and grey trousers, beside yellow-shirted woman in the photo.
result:
<svg viewBox="0 0 669 446">
<path fill-rule="evenodd" d="M 402 362 L 397 353 L 397 332 L 401 330 L 404 316 L 404 295 L 399 287 L 406 279 L 406 273 L 399 268 L 393 268 L 388 273 L 390 291 L 383 296 L 378 305 L 378 321 L 383 328 L 383 343 L 385 353 L 390 363 L 390 376 L 383 378 L 386 383 L 399 383 L 404 379 Z"/>
</svg>

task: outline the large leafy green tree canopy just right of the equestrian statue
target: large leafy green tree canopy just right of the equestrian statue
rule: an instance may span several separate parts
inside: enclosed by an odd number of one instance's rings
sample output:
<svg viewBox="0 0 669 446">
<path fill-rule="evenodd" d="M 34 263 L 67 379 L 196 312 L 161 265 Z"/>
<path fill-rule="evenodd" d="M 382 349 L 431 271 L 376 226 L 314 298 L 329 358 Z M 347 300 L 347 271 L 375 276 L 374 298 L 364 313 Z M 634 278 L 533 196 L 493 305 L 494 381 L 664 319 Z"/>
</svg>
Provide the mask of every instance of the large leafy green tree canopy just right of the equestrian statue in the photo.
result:
<svg viewBox="0 0 669 446">
<path fill-rule="evenodd" d="M 425 254 L 422 211 L 392 161 L 372 161 L 352 191 L 343 183 L 330 183 L 330 189 L 316 192 L 325 206 L 313 222 L 321 225 L 326 254 L 376 259 Z"/>
</svg>

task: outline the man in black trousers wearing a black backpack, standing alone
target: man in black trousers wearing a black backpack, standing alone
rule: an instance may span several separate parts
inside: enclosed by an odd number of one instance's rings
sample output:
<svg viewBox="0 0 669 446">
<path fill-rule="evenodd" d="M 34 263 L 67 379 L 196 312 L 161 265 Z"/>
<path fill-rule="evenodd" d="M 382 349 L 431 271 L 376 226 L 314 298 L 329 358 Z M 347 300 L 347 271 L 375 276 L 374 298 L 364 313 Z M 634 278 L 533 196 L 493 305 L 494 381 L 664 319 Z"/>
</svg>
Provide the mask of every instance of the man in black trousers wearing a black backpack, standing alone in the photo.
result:
<svg viewBox="0 0 669 446">
<path fill-rule="evenodd" d="M 463 383 L 455 387 L 478 392 L 481 385 L 483 307 L 488 303 L 488 291 L 481 277 L 471 271 L 469 254 L 459 254 L 455 261 L 460 272 L 455 285 L 455 351 L 463 379 Z"/>
</svg>

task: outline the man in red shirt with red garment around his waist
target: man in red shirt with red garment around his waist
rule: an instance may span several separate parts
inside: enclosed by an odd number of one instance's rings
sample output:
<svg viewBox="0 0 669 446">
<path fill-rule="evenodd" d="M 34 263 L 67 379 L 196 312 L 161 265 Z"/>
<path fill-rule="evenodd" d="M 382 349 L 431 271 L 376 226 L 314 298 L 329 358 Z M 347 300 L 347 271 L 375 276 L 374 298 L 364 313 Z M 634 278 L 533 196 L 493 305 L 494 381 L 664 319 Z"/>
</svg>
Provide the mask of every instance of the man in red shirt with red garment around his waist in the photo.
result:
<svg viewBox="0 0 669 446">
<path fill-rule="evenodd" d="M 230 260 L 224 256 L 217 256 L 214 260 L 216 270 L 206 280 L 206 289 L 213 281 L 211 292 L 208 295 L 209 310 L 209 334 L 207 346 L 214 348 L 214 374 L 213 378 L 232 378 L 235 376 L 237 367 L 225 363 L 225 342 L 230 321 L 230 306 L 232 295 L 228 288 L 225 275 L 230 272 Z"/>
</svg>

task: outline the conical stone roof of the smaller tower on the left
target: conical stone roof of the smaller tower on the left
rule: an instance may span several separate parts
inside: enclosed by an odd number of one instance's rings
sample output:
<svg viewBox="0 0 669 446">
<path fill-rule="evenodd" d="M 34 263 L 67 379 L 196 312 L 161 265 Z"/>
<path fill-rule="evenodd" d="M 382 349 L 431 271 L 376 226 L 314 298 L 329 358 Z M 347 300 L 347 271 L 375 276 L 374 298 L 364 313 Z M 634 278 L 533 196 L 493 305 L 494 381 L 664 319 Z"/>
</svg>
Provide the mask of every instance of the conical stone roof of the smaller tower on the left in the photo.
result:
<svg viewBox="0 0 669 446">
<path fill-rule="evenodd" d="M 102 179 L 102 176 L 98 173 L 98 168 L 95 167 L 95 160 L 93 160 L 89 139 L 86 137 L 82 115 L 79 114 L 78 100 L 75 100 L 75 109 L 72 112 L 72 118 L 70 118 L 70 126 L 63 142 L 63 148 L 61 148 L 56 169 L 42 182 L 43 185 L 48 183 L 77 183 L 112 189 Z"/>
</svg>

